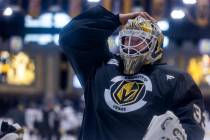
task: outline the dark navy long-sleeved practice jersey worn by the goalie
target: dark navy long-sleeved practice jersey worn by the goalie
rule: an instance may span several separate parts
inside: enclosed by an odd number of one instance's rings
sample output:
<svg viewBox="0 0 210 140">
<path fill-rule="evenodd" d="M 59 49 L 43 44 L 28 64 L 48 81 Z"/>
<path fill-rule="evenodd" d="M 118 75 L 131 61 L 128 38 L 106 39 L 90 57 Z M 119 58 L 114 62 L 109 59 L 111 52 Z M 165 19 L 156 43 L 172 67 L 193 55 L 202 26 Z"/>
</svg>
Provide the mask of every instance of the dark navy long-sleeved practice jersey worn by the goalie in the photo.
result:
<svg viewBox="0 0 210 140">
<path fill-rule="evenodd" d="M 96 6 L 72 19 L 60 45 L 84 89 L 85 111 L 79 140 L 142 140 L 154 115 L 172 111 L 188 140 L 202 140 L 203 99 L 191 77 L 168 65 L 146 65 L 124 75 L 107 38 L 119 16 Z"/>
</svg>

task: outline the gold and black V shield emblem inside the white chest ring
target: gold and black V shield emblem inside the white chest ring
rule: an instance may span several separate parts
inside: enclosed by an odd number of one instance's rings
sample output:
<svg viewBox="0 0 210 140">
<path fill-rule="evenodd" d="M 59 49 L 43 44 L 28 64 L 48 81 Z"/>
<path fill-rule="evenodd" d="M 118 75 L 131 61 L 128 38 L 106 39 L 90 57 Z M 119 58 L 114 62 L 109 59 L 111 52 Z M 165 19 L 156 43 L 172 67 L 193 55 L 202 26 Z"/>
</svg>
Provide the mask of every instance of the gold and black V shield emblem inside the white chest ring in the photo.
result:
<svg viewBox="0 0 210 140">
<path fill-rule="evenodd" d="M 129 105 L 138 101 L 143 89 L 143 82 L 121 81 L 112 93 L 112 98 L 119 105 Z"/>
</svg>

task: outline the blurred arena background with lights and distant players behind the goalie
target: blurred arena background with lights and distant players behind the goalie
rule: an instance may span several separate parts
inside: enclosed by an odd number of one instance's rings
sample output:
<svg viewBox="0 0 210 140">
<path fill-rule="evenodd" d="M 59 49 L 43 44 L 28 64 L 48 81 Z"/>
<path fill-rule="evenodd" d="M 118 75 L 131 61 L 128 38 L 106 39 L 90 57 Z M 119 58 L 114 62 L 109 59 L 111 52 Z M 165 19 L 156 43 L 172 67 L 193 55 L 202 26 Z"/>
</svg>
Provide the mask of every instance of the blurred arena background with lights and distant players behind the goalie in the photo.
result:
<svg viewBox="0 0 210 140">
<path fill-rule="evenodd" d="M 188 71 L 202 91 L 210 140 L 210 0 L 0 0 L 0 119 L 24 126 L 24 140 L 77 139 L 83 91 L 58 34 L 96 4 L 158 20 L 165 62 Z M 117 39 L 116 32 L 108 40 L 116 53 Z"/>
</svg>

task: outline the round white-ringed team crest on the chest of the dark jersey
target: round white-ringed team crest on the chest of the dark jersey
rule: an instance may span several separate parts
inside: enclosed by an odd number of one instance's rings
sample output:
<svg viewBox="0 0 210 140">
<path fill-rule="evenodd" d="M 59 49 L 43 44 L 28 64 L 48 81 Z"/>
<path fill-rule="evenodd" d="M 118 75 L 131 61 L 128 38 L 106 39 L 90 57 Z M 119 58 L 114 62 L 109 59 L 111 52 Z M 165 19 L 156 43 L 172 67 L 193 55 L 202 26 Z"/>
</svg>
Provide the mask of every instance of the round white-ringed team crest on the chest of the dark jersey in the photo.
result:
<svg viewBox="0 0 210 140">
<path fill-rule="evenodd" d="M 104 98 L 112 110 L 127 113 L 146 105 L 144 97 L 148 91 L 152 91 L 152 83 L 146 75 L 116 76 L 105 89 Z"/>
</svg>

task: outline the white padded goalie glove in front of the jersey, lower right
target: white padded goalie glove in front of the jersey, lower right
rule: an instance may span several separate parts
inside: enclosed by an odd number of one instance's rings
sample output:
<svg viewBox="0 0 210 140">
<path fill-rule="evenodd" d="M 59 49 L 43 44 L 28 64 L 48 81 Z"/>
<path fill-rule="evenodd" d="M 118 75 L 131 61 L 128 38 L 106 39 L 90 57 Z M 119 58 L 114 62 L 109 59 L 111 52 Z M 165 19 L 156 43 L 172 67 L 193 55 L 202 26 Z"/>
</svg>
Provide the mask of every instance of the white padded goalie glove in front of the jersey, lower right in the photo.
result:
<svg viewBox="0 0 210 140">
<path fill-rule="evenodd" d="M 153 117 L 143 140 L 187 140 L 187 135 L 178 117 L 167 111 Z"/>
</svg>

